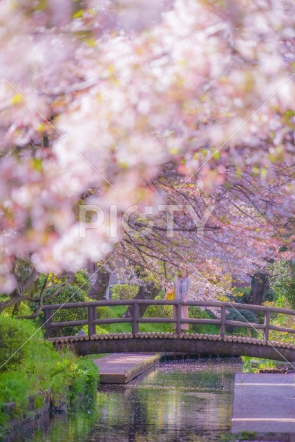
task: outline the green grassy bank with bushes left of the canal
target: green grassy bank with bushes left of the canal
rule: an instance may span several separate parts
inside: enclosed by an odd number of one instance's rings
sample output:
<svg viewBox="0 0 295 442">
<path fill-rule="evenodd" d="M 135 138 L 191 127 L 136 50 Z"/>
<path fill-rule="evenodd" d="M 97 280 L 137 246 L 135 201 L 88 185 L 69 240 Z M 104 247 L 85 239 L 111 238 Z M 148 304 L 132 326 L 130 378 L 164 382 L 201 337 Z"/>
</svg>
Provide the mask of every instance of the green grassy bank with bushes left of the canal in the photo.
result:
<svg viewBox="0 0 295 442">
<path fill-rule="evenodd" d="M 77 396 L 91 396 L 97 388 L 97 366 L 67 350 L 57 352 L 30 320 L 0 316 L 0 432 L 8 419 L 23 419 L 44 406 L 75 403 Z M 6 403 L 14 403 L 12 416 Z"/>
</svg>

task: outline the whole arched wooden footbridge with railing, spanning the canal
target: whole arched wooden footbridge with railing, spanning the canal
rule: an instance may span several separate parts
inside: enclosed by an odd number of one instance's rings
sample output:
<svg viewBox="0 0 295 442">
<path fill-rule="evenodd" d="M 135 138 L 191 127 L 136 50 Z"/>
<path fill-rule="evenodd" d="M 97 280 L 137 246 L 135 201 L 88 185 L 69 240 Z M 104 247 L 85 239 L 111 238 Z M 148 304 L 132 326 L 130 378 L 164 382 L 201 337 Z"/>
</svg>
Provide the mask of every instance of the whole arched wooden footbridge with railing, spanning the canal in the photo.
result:
<svg viewBox="0 0 295 442">
<path fill-rule="evenodd" d="M 97 318 L 97 307 L 112 307 L 115 305 L 131 306 L 131 317 L 123 318 Z M 140 316 L 141 306 L 175 305 L 177 318 L 144 318 Z M 289 317 L 294 327 L 295 311 L 290 309 L 278 309 L 276 307 L 265 307 L 261 305 L 238 304 L 219 301 L 188 301 L 185 305 L 193 307 L 215 307 L 220 310 L 220 318 L 202 319 L 181 318 L 181 306 L 179 300 L 113 300 L 96 302 L 70 302 L 65 304 L 44 305 L 44 327 L 45 337 L 53 341 L 57 347 L 70 345 L 77 354 L 97 353 L 121 353 L 121 352 L 176 352 L 186 354 L 218 354 L 224 356 L 253 356 L 258 358 L 275 359 L 278 361 L 295 361 L 295 328 L 278 327 L 272 325 L 272 315 L 283 314 Z M 68 322 L 54 322 L 55 312 L 60 309 L 85 308 L 88 311 L 88 319 L 72 320 Z M 263 323 L 249 323 L 227 319 L 227 310 L 247 309 L 256 313 L 262 312 Z M 241 314 L 242 318 L 242 314 Z M 96 334 L 96 325 L 131 323 L 132 333 Z M 140 323 L 174 323 L 174 333 L 140 333 Z M 219 327 L 219 334 L 183 334 L 181 333 L 182 323 L 216 325 Z M 61 336 L 50 338 L 52 329 L 62 327 L 88 325 L 88 334 L 85 336 Z M 249 338 L 246 336 L 228 336 L 227 327 L 248 328 L 262 332 L 260 338 Z M 287 342 L 271 340 L 272 332 L 287 334 Z M 238 335 L 238 334 L 237 334 Z M 284 335 L 283 335 L 284 336 Z"/>
</svg>

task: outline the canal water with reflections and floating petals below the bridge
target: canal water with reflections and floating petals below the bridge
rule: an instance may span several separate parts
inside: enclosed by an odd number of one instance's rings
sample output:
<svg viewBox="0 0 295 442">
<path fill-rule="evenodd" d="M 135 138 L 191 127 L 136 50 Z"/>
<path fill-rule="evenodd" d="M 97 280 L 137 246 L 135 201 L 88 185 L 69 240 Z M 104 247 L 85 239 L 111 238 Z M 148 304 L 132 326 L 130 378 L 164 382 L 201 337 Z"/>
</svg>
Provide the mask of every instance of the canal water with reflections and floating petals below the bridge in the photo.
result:
<svg viewBox="0 0 295 442">
<path fill-rule="evenodd" d="M 211 442 L 230 431 L 239 359 L 166 361 L 127 385 L 101 385 L 93 403 L 45 415 L 11 442 Z"/>
</svg>

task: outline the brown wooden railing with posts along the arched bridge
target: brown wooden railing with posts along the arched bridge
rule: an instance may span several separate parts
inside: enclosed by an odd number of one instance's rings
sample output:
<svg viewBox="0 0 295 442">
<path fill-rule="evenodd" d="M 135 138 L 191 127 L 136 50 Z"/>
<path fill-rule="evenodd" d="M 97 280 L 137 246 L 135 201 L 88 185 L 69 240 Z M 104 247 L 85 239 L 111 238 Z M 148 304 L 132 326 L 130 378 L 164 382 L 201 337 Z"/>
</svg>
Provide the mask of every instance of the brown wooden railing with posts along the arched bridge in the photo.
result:
<svg viewBox="0 0 295 442">
<path fill-rule="evenodd" d="M 132 316 L 128 318 L 97 318 L 97 307 L 112 307 L 115 305 L 132 306 Z M 176 318 L 144 318 L 140 316 L 140 305 L 174 305 L 176 307 Z M 191 307 L 218 307 L 220 308 L 220 318 L 217 319 L 202 319 L 202 318 L 189 318 L 182 319 L 181 307 L 183 305 Z M 88 310 L 88 318 L 85 320 L 70 320 L 64 322 L 53 322 L 54 312 L 59 309 L 77 309 L 85 308 Z M 238 320 L 229 320 L 226 318 L 227 309 L 247 309 L 250 311 L 262 311 L 264 314 L 264 323 L 249 323 Z M 265 340 L 269 340 L 269 332 L 274 330 L 276 332 L 283 332 L 289 334 L 295 334 L 295 329 L 287 327 L 278 327 L 270 323 L 270 315 L 272 313 L 284 314 L 289 316 L 295 316 L 295 310 L 291 309 L 278 309 L 277 307 L 265 307 L 262 305 L 249 305 L 238 304 L 234 302 L 220 302 L 220 301 L 197 301 L 191 300 L 184 303 L 180 300 L 143 300 L 133 298 L 131 300 L 102 300 L 102 301 L 88 301 L 88 302 L 68 302 L 66 304 L 52 304 L 44 305 L 44 327 L 46 332 L 44 337 L 48 338 L 50 332 L 54 328 L 72 327 L 79 325 L 88 325 L 88 335 L 91 336 L 96 332 L 96 325 L 103 324 L 122 324 L 131 323 L 132 333 L 135 334 L 139 331 L 140 323 L 174 323 L 176 325 L 175 332 L 180 334 L 182 324 L 206 324 L 217 325 L 220 328 L 220 336 L 225 336 L 226 327 L 242 327 L 251 329 L 263 330 Z"/>
</svg>

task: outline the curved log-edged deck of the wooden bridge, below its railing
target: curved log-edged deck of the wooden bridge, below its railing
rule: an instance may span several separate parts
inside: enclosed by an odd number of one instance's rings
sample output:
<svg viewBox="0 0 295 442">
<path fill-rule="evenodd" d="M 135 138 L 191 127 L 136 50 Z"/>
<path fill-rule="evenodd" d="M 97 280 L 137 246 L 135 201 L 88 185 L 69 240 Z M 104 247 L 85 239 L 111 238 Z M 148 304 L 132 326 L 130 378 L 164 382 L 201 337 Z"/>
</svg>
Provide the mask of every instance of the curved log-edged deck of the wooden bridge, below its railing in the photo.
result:
<svg viewBox="0 0 295 442">
<path fill-rule="evenodd" d="M 78 355 L 99 353 L 184 353 L 251 356 L 295 361 L 295 345 L 254 338 L 200 334 L 110 334 L 51 338 L 55 347 L 70 346 Z"/>
</svg>

